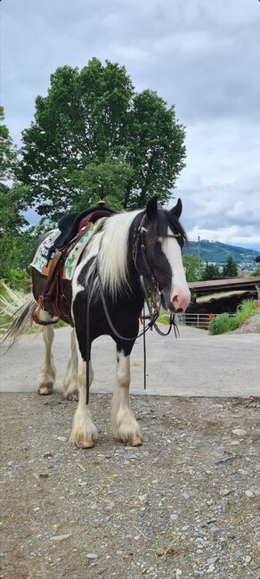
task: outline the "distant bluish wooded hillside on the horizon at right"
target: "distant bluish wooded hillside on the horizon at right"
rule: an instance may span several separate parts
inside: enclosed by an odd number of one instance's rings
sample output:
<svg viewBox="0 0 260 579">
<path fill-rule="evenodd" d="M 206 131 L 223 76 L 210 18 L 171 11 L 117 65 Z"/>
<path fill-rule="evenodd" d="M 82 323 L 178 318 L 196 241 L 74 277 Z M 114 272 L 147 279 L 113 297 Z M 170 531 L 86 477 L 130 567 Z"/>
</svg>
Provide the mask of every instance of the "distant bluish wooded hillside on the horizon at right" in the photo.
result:
<svg viewBox="0 0 260 579">
<path fill-rule="evenodd" d="M 236 263 L 240 266 L 240 269 L 256 268 L 255 259 L 259 252 L 256 252 L 253 249 L 245 249 L 245 247 L 221 244 L 218 241 L 207 241 L 207 239 L 201 239 L 199 246 L 201 261 L 223 264 L 230 254 Z M 198 242 L 191 241 L 190 244 L 183 249 L 183 253 L 190 253 L 190 255 L 195 255 L 198 257 Z"/>
</svg>

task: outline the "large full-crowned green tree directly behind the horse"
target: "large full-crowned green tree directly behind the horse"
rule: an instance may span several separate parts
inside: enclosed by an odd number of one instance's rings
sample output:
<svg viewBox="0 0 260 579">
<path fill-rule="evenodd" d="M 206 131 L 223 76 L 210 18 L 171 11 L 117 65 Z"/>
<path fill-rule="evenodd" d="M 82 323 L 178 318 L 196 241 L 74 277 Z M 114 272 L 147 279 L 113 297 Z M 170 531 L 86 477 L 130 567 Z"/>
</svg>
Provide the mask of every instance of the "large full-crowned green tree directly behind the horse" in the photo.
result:
<svg viewBox="0 0 260 579">
<path fill-rule="evenodd" d="M 20 178 L 40 215 L 57 219 L 87 206 L 100 189 L 107 201 L 117 180 L 112 170 L 119 175 L 115 208 L 133 209 L 154 193 L 162 203 L 170 198 L 184 166 L 184 128 L 155 92 L 134 93 L 124 67 L 93 58 L 82 70 L 63 66 L 51 76 L 23 131 L 22 156 Z"/>
</svg>

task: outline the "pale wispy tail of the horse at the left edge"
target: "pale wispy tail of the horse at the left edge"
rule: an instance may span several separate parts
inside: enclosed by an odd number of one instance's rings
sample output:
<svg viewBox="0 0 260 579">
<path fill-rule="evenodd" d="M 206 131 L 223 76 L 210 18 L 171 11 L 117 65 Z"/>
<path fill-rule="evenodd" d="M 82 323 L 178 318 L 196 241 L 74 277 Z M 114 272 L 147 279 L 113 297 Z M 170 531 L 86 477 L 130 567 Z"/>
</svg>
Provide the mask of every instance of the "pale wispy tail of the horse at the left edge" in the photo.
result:
<svg viewBox="0 0 260 579">
<path fill-rule="evenodd" d="M 4 286 L 4 295 L 0 295 L 0 317 L 4 318 L 1 324 L 1 340 L 11 340 L 15 343 L 20 335 L 32 326 L 32 313 L 36 302 L 32 294 L 22 295 Z"/>
</svg>

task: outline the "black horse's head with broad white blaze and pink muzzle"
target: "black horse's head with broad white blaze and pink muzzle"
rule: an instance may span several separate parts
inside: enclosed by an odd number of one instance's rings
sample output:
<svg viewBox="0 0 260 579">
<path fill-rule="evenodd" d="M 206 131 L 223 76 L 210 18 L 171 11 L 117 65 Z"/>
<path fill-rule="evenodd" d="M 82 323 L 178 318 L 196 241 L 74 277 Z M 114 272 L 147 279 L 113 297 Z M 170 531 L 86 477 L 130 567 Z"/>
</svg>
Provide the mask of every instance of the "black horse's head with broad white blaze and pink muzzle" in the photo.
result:
<svg viewBox="0 0 260 579">
<path fill-rule="evenodd" d="M 180 199 L 170 211 L 159 209 L 157 196 L 147 203 L 139 225 L 140 247 L 136 253 L 138 271 L 144 277 L 152 272 L 167 310 L 185 311 L 191 293 L 183 269 L 182 249 L 186 234 L 179 221 L 183 209 Z M 147 262 L 146 262 L 147 260 Z"/>
</svg>

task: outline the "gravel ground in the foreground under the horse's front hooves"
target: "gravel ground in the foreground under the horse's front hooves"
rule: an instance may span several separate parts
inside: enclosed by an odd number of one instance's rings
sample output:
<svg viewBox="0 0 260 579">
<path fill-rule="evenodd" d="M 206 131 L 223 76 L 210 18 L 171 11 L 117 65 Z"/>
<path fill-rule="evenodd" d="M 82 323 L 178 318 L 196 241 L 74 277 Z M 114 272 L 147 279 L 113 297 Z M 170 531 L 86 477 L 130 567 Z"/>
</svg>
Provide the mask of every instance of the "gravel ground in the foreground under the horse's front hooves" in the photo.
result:
<svg viewBox="0 0 260 579">
<path fill-rule="evenodd" d="M 1 398 L 1 579 L 259 578 L 259 400 L 134 396 L 133 449 L 93 394 L 80 451 L 61 394 Z"/>
</svg>

